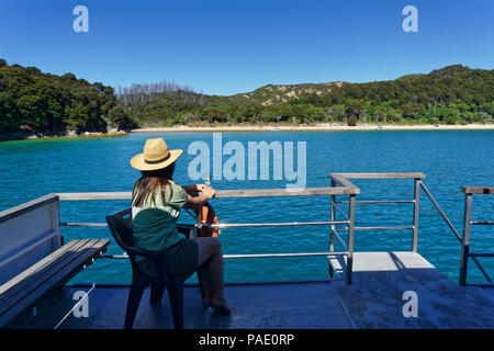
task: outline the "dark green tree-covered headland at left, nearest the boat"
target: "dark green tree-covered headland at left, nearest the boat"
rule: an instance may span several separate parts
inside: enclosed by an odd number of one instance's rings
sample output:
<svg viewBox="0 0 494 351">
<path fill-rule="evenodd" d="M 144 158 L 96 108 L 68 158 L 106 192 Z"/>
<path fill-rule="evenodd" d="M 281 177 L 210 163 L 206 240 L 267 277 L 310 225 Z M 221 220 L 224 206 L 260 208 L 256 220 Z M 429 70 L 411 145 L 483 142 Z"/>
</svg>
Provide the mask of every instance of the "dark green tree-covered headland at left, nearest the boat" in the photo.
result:
<svg viewBox="0 0 494 351">
<path fill-rule="evenodd" d="M 112 87 L 89 83 L 71 73 L 42 73 L 35 67 L 0 59 L 0 134 L 57 134 L 128 128 L 132 122 Z"/>
</svg>

